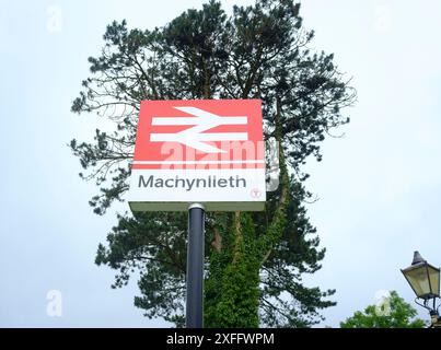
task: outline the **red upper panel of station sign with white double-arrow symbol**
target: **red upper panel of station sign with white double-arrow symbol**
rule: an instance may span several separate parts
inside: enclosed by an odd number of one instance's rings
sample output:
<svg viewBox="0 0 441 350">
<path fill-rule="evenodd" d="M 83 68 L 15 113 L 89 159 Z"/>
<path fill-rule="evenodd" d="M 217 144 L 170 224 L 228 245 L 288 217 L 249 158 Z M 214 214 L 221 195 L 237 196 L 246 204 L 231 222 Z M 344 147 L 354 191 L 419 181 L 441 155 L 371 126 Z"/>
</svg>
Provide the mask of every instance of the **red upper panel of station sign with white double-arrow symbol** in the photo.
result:
<svg viewBox="0 0 441 350">
<path fill-rule="evenodd" d="M 143 101 L 134 170 L 264 167 L 260 100 Z"/>
</svg>

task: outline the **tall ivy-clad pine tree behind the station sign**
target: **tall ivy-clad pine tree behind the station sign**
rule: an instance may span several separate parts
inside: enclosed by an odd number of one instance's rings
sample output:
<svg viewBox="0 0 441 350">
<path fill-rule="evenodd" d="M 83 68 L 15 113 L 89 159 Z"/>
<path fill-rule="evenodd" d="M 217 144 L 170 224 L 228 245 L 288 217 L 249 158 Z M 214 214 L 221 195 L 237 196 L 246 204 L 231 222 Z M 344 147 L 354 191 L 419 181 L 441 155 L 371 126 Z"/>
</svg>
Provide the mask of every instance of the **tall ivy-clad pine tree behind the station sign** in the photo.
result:
<svg viewBox="0 0 441 350">
<path fill-rule="evenodd" d="M 72 104 L 76 113 L 93 112 L 115 125 L 112 133 L 95 130 L 93 142 L 70 143 L 84 168 L 80 176 L 100 186 L 90 205 L 104 214 L 128 189 L 140 101 L 263 100 L 265 139 L 279 142 L 280 186 L 267 194 L 264 212 L 207 213 L 206 327 L 305 327 L 335 305 L 334 290 L 302 284 L 325 254 L 306 214 L 312 195 L 302 165 L 309 156 L 322 159 L 320 142 L 349 121 L 340 109 L 356 94 L 333 55 L 310 51 L 314 34 L 303 30 L 299 10 L 292 0 L 257 0 L 227 15 L 210 1 L 160 28 L 113 22 Z M 186 230 L 186 213 L 125 213 L 95 259 L 118 271 L 114 287 L 139 270 L 135 305 L 178 327 Z"/>
</svg>

